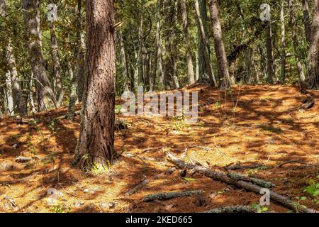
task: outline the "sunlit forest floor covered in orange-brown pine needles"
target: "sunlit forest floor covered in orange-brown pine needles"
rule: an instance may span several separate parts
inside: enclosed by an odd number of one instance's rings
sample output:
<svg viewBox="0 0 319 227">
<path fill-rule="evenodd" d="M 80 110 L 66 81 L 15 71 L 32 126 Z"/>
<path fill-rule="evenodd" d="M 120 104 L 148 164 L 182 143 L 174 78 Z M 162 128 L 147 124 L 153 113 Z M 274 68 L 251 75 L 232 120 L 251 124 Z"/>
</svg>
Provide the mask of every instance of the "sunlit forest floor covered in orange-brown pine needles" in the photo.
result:
<svg viewBox="0 0 319 227">
<path fill-rule="evenodd" d="M 74 122 L 65 119 L 23 125 L 4 118 L 0 121 L 0 212 L 202 212 L 259 204 L 259 194 L 198 173 L 181 177 L 179 170 L 173 171 L 166 153 L 180 157 L 186 148 L 189 157 L 220 172 L 231 163 L 262 165 L 236 172 L 273 182 L 275 192 L 318 209 L 315 197 L 303 190 L 309 182 L 318 182 L 319 169 L 312 165 L 319 162 L 319 92 L 313 92 L 313 108 L 298 111 L 305 96 L 297 87 L 237 86 L 227 99 L 225 92 L 206 86 L 189 91 L 198 91 L 198 103 L 207 104 L 194 125 L 177 118 L 117 116 L 129 127 L 116 131 L 116 151 L 121 157 L 103 175 L 72 167 L 79 116 Z M 61 108 L 37 118 L 66 113 L 67 108 Z M 33 160 L 18 163 L 18 156 Z M 303 163 L 279 167 L 295 160 Z M 57 190 L 57 204 L 50 204 L 47 192 L 52 189 Z M 142 201 L 148 194 L 197 189 L 205 192 L 167 201 Z M 273 201 L 268 207 L 270 212 L 289 211 Z"/>
</svg>

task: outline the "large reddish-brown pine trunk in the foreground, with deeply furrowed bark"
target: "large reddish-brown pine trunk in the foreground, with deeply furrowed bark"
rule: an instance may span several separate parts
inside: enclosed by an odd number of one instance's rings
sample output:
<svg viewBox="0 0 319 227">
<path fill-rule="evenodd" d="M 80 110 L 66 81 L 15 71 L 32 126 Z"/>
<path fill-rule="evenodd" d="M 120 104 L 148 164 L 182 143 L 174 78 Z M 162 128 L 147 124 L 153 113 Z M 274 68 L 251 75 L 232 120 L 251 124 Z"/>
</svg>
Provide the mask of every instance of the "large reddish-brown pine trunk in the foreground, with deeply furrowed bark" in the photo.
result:
<svg viewBox="0 0 319 227">
<path fill-rule="evenodd" d="M 111 165 L 114 144 L 115 42 L 113 0 L 86 1 L 86 81 L 75 162 Z"/>
</svg>

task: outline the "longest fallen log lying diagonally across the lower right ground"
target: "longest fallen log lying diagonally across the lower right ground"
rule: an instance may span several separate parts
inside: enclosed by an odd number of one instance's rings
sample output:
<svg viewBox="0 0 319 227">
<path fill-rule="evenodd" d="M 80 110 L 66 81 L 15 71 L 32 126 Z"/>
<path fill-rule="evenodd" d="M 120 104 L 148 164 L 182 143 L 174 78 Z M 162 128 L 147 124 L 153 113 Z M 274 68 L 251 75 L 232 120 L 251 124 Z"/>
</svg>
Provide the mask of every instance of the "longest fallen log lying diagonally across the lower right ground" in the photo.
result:
<svg viewBox="0 0 319 227">
<path fill-rule="evenodd" d="M 211 179 L 218 180 L 221 182 L 225 182 L 226 184 L 232 184 L 236 187 L 246 189 L 247 191 L 254 192 L 256 194 L 259 194 L 262 187 L 252 184 L 250 182 L 245 182 L 243 180 L 236 180 L 228 177 L 223 172 L 216 172 L 213 170 L 209 170 L 206 167 L 201 167 L 198 165 L 189 164 L 187 162 L 184 162 L 183 160 L 178 159 L 177 157 L 174 157 L 174 155 L 167 153 L 167 160 L 174 163 L 174 165 L 177 165 L 177 167 L 181 169 L 189 169 L 189 170 L 195 170 L 198 173 L 201 173 L 205 175 L 206 177 L 210 177 Z M 297 204 L 295 201 L 292 201 L 286 196 L 283 196 L 281 194 L 277 194 L 276 192 L 273 192 L 269 190 L 270 192 L 270 199 L 273 201 L 278 202 L 279 204 L 286 206 L 289 209 L 297 210 L 304 212 L 304 213 L 318 213 L 318 211 L 314 209 L 308 209 L 306 206 L 301 206 Z"/>
</svg>

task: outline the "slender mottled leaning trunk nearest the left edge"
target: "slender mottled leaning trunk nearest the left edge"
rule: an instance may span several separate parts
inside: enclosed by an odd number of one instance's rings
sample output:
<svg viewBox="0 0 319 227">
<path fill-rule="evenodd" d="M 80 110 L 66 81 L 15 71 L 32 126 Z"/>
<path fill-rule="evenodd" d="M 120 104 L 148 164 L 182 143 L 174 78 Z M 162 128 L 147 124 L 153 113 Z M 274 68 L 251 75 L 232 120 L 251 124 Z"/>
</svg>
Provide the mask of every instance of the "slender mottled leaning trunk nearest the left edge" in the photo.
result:
<svg viewBox="0 0 319 227">
<path fill-rule="evenodd" d="M 21 116 L 26 116 L 27 114 L 26 104 L 23 101 L 20 84 L 18 83 L 18 71 L 16 70 L 16 59 L 14 58 L 12 46 L 10 43 L 6 48 L 6 59 L 8 61 L 8 65 L 10 68 L 11 82 L 13 87 L 13 103 L 14 103 L 14 106 L 16 106 L 15 108 L 16 112 L 20 114 Z"/>
</svg>

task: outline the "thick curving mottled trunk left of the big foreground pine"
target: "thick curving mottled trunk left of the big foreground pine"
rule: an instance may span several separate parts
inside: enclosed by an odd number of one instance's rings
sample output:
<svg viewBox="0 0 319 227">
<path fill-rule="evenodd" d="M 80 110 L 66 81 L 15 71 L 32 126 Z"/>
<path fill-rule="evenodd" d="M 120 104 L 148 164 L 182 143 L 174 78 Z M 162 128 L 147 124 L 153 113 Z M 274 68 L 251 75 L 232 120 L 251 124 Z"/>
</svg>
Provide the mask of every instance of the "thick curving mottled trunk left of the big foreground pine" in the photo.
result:
<svg viewBox="0 0 319 227">
<path fill-rule="evenodd" d="M 39 6 L 39 0 L 23 0 L 23 14 L 26 23 L 26 33 L 28 35 L 30 65 L 35 79 L 35 89 L 38 97 L 38 111 L 43 111 L 47 109 L 47 98 L 49 98 L 55 106 L 56 99 L 43 63 Z"/>
</svg>

